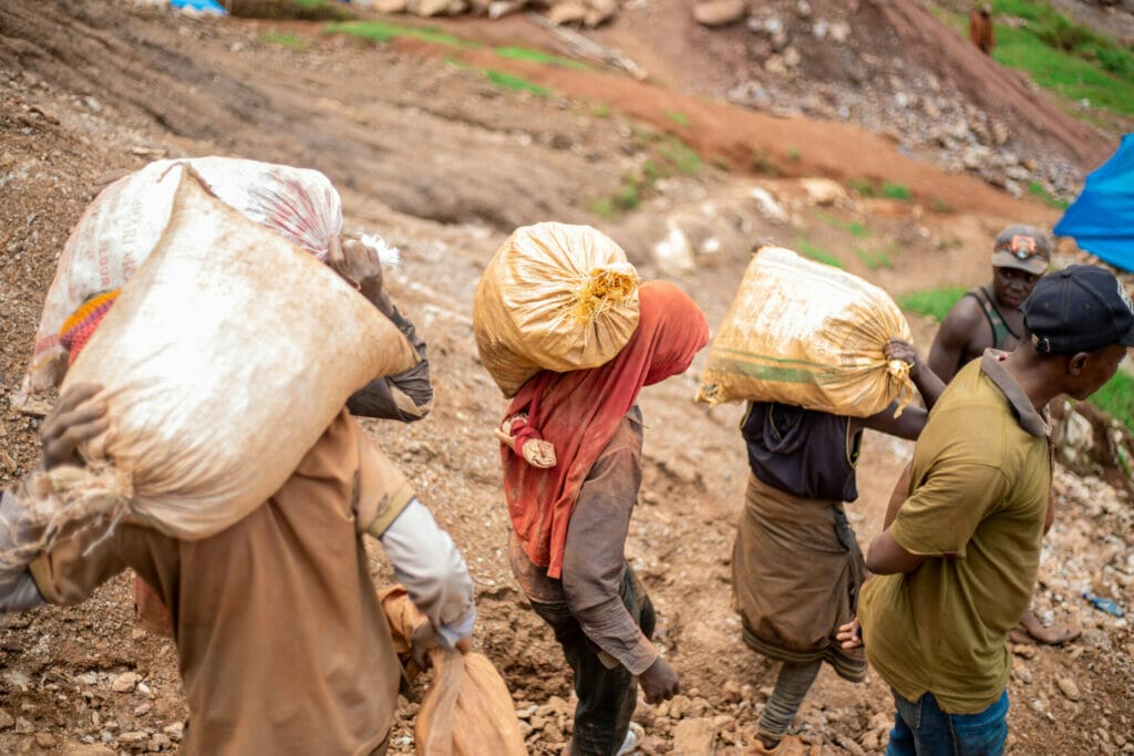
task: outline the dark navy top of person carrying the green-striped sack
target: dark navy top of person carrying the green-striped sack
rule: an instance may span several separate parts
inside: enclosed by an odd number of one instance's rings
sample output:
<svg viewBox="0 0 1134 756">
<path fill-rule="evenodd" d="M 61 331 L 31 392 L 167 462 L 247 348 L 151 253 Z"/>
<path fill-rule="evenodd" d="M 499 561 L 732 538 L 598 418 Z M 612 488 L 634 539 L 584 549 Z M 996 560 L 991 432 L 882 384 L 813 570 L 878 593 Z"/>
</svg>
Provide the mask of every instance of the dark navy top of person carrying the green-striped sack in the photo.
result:
<svg viewBox="0 0 1134 756">
<path fill-rule="evenodd" d="M 802 407 L 753 401 L 741 423 L 752 474 L 803 499 L 854 501 L 862 431 L 850 419 Z"/>
</svg>

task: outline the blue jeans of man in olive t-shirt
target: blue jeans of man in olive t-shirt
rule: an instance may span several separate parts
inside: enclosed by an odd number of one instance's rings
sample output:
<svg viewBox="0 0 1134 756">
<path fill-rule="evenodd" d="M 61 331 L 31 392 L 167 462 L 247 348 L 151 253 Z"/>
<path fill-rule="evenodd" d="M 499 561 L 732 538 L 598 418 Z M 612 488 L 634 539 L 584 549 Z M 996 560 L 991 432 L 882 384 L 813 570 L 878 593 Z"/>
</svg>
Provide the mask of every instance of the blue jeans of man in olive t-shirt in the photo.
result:
<svg viewBox="0 0 1134 756">
<path fill-rule="evenodd" d="M 926 693 L 911 703 L 894 691 L 897 714 L 886 756 L 1002 756 L 1008 691 L 979 714 L 947 714 Z"/>
</svg>

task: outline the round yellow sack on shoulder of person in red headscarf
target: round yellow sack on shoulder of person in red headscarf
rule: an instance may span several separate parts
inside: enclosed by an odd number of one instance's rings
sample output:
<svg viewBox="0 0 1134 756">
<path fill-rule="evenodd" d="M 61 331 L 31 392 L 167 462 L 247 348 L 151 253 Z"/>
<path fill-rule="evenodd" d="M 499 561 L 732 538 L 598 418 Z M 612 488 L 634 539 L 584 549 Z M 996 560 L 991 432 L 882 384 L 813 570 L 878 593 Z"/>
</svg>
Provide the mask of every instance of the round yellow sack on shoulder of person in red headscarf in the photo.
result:
<svg viewBox="0 0 1134 756">
<path fill-rule="evenodd" d="M 481 362 L 506 397 L 541 369 L 598 367 L 637 328 L 637 284 L 621 247 L 590 226 L 516 229 L 476 287 Z"/>
</svg>

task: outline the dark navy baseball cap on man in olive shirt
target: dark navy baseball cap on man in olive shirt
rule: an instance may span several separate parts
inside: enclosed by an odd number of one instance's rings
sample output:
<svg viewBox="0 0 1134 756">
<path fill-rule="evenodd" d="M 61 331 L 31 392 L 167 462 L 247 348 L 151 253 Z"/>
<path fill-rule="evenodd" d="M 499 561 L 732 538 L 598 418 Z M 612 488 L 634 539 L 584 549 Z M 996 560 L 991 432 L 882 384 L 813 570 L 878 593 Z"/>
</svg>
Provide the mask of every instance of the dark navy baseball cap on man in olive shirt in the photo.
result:
<svg viewBox="0 0 1134 756">
<path fill-rule="evenodd" d="M 1036 351 L 1068 355 L 1111 343 L 1134 347 L 1134 304 L 1105 267 L 1070 265 L 1048 273 L 1023 309 Z"/>
</svg>

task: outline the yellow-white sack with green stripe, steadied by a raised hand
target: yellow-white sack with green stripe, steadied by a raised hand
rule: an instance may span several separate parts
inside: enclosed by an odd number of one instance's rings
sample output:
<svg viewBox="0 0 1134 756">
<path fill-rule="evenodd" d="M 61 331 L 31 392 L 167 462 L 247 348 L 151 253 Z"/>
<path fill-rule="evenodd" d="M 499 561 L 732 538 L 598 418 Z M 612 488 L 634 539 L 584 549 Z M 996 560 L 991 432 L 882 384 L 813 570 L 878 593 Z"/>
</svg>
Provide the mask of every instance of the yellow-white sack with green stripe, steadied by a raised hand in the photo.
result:
<svg viewBox="0 0 1134 756">
<path fill-rule="evenodd" d="M 866 417 L 913 398 L 909 367 L 882 354 L 911 341 L 890 297 L 846 271 L 764 247 L 712 341 L 697 401 L 778 401 Z M 899 409 L 900 411 L 900 409 Z"/>
</svg>

